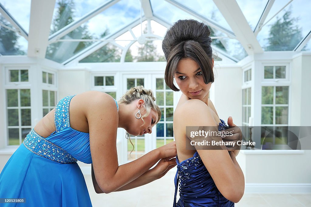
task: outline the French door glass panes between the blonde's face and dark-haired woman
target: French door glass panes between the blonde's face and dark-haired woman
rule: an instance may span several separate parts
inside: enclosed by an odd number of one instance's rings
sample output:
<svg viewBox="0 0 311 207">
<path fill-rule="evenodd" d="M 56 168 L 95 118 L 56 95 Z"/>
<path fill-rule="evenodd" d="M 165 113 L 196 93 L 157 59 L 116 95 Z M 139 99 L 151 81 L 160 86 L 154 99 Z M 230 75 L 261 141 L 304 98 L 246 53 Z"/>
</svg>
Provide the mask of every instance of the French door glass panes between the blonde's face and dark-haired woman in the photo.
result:
<svg viewBox="0 0 311 207">
<path fill-rule="evenodd" d="M 156 125 L 156 147 L 173 141 L 173 91 L 165 84 L 164 78 L 156 78 L 156 103 L 162 115 Z"/>
</svg>

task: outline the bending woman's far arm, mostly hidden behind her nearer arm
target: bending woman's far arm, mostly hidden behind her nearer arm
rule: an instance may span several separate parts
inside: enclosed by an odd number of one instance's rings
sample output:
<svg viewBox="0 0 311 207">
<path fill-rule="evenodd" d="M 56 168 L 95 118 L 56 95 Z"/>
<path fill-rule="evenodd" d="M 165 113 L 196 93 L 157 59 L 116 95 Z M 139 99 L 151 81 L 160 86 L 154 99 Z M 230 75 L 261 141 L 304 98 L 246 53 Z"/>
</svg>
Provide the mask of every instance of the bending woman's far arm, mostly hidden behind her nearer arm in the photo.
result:
<svg viewBox="0 0 311 207">
<path fill-rule="evenodd" d="M 152 181 L 160 179 L 170 169 L 172 169 L 175 166 L 176 166 L 176 158 L 172 158 L 172 159 L 164 158 L 164 159 L 161 159 L 160 162 L 158 162 L 158 164 L 156 165 L 156 167 L 148 170 L 147 172 L 145 172 L 144 174 L 142 174 L 141 176 L 139 176 L 138 178 L 136 178 L 132 182 L 126 184 L 125 186 L 119 188 L 116 191 L 125 191 L 125 190 L 129 190 L 129 189 L 132 189 L 132 188 L 136 188 L 136 187 L 139 187 L 139 186 L 146 185 L 147 183 L 150 183 Z M 100 187 L 98 186 L 98 184 L 96 182 L 93 166 L 92 166 L 91 173 L 92 173 L 92 181 L 93 181 L 93 186 L 94 186 L 95 192 L 96 193 L 104 193 L 104 191 L 102 191 L 100 189 Z"/>
</svg>

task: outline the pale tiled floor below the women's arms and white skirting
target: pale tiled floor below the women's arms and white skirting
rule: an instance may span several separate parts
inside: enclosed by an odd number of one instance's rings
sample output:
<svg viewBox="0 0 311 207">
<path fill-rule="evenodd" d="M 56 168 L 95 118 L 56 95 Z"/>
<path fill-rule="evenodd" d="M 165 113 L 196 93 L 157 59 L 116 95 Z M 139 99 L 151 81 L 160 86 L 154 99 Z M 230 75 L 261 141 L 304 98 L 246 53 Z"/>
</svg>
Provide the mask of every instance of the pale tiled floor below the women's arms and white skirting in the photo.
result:
<svg viewBox="0 0 311 207">
<path fill-rule="evenodd" d="M 91 175 L 85 175 L 85 179 L 93 207 L 171 207 L 175 172 L 176 168 L 173 168 L 161 179 L 145 186 L 109 194 L 95 193 Z M 311 193 L 244 194 L 235 207 L 311 207 Z"/>
</svg>

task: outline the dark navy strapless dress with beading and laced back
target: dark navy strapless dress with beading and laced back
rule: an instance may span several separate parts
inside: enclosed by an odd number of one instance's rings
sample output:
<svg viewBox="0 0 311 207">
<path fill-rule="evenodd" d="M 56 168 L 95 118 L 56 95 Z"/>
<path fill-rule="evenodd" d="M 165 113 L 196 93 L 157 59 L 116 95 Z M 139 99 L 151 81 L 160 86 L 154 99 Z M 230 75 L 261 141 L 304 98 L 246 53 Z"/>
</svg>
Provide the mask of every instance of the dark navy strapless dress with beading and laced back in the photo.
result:
<svg viewBox="0 0 311 207">
<path fill-rule="evenodd" d="M 228 129 L 223 120 L 218 130 Z M 233 207 L 234 203 L 226 199 L 217 189 L 213 178 L 207 171 L 199 154 L 179 162 L 176 157 L 177 172 L 175 176 L 175 198 L 173 207 Z M 179 186 L 180 199 L 176 203 Z"/>
</svg>

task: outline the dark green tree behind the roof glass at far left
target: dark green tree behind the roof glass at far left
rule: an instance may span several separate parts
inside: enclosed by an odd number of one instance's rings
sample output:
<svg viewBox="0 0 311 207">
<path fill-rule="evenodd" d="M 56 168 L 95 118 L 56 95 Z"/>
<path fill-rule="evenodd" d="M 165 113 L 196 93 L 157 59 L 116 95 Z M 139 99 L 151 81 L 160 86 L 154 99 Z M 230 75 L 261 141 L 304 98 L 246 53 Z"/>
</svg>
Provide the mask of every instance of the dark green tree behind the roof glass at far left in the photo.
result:
<svg viewBox="0 0 311 207">
<path fill-rule="evenodd" d="M 0 22 L 13 28 L 3 16 L 0 16 Z M 25 55 L 26 53 L 21 50 L 21 46 L 17 45 L 18 38 L 16 32 L 0 26 L 0 53 L 2 55 Z"/>
</svg>

